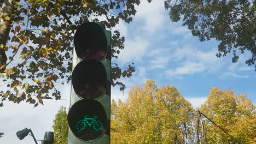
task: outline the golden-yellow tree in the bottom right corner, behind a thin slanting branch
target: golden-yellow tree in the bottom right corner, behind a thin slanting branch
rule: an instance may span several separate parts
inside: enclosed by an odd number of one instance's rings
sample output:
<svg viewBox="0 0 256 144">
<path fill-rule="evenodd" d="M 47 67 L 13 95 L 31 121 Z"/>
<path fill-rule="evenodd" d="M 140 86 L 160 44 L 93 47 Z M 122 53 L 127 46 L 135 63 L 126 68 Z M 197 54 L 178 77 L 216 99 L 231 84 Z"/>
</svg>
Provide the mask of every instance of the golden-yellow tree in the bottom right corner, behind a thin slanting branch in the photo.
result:
<svg viewBox="0 0 256 144">
<path fill-rule="evenodd" d="M 256 143 L 255 105 L 245 95 L 237 95 L 231 89 L 211 88 L 200 111 L 240 143 Z M 208 119 L 205 125 L 208 143 L 236 143 Z"/>
</svg>

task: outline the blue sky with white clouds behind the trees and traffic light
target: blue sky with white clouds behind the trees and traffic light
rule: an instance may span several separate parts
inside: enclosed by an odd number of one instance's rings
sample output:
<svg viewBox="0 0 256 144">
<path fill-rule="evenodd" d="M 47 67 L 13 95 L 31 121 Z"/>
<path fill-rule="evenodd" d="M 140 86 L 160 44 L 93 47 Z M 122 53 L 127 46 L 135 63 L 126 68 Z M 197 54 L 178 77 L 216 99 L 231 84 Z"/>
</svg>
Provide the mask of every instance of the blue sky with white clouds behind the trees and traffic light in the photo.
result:
<svg viewBox="0 0 256 144">
<path fill-rule="evenodd" d="M 232 54 L 217 58 L 219 42 L 201 42 L 182 26 L 182 21 L 171 22 L 162 0 L 141 1 L 136 10 L 131 23 L 121 21 L 112 29 L 119 29 L 125 36 L 125 49 L 112 61 L 120 67 L 134 62 L 136 67 L 131 79 L 121 79 L 126 85 L 124 93 L 118 86 L 112 87 L 112 99 L 124 101 L 131 86 L 143 86 L 147 79 L 153 79 L 158 87 L 167 84 L 177 87 L 193 107 L 206 100 L 212 87 L 231 88 L 256 103 L 256 73 L 245 64 L 251 57 L 249 52 L 238 55 L 240 59 L 235 64 L 231 62 Z M 62 99 L 69 99 L 71 83 L 57 87 Z M 53 131 L 53 119 L 61 105 L 69 107 L 69 101 L 44 100 L 44 105 L 34 108 L 25 101 L 20 104 L 4 101 L 4 107 L 0 108 L 0 132 L 5 135 L 0 143 L 33 143 L 29 135 L 24 140 L 16 137 L 16 131 L 24 128 L 31 128 L 36 139 L 42 140 L 45 131 Z"/>
</svg>

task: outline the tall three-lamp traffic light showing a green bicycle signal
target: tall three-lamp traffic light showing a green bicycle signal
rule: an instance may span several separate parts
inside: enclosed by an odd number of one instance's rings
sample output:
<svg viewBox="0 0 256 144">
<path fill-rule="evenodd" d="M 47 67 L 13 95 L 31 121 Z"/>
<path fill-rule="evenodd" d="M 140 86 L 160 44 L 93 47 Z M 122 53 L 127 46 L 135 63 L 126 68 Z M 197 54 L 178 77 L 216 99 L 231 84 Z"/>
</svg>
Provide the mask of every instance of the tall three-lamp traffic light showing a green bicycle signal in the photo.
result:
<svg viewBox="0 0 256 144">
<path fill-rule="evenodd" d="M 110 39 L 101 22 L 74 34 L 68 144 L 110 143 Z"/>
</svg>

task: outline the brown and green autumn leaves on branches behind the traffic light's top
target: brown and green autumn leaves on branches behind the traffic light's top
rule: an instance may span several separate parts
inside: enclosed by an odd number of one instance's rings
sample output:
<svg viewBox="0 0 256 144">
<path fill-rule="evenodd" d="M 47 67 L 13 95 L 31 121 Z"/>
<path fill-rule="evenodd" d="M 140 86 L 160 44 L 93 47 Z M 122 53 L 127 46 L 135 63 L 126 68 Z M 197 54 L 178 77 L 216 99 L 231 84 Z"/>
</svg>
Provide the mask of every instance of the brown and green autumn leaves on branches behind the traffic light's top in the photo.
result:
<svg viewBox="0 0 256 144">
<path fill-rule="evenodd" d="M 9 7 L 5 5 L 7 2 L 11 3 Z M 121 20 L 129 23 L 139 3 L 139 0 L 0 1 L 0 69 L 4 70 L 4 74 L 0 73 L 3 81 L 0 86 L 8 87 L 7 91 L 0 91 L 0 106 L 6 99 L 14 103 L 26 100 L 37 106 L 43 104 L 41 97 L 48 97 L 50 91 L 51 96 L 60 99 L 55 85 L 71 80 L 74 30 L 87 21 L 101 21 L 107 29 Z M 8 14 L 5 8 L 9 8 Z M 119 31 L 112 33 L 112 58 L 118 58 L 119 50 L 124 49 L 124 40 Z M 112 63 L 112 86 L 124 90 L 119 78 L 131 77 L 134 71 L 130 64 L 120 68 Z"/>
</svg>

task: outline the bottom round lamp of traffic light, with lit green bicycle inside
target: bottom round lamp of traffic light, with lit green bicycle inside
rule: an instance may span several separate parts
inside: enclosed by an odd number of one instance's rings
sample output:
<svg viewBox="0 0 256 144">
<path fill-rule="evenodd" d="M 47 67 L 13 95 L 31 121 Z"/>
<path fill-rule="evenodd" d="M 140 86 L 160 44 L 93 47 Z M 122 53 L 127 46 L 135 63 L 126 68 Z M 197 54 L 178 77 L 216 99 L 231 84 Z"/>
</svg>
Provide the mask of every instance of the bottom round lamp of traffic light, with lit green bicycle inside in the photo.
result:
<svg viewBox="0 0 256 144">
<path fill-rule="evenodd" d="M 67 118 L 69 128 L 82 141 L 95 141 L 106 131 L 107 115 L 102 104 L 96 100 L 77 101 Z"/>
</svg>

